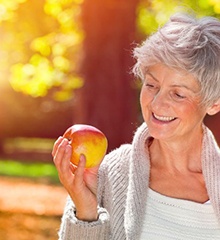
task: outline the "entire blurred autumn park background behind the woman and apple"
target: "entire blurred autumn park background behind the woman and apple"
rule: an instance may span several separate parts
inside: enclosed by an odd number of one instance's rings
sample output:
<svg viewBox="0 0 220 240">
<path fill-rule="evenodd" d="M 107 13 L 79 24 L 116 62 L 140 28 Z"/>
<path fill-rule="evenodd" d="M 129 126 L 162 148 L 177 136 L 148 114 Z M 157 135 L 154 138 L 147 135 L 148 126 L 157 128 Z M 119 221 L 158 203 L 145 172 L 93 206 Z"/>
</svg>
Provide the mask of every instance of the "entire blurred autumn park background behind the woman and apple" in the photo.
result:
<svg viewBox="0 0 220 240">
<path fill-rule="evenodd" d="M 220 17 L 218 0 L 0 0 L 0 240 L 57 239 L 55 139 L 86 123 L 108 151 L 132 140 L 132 49 L 181 8 Z M 205 119 L 218 143 L 219 120 Z"/>
</svg>

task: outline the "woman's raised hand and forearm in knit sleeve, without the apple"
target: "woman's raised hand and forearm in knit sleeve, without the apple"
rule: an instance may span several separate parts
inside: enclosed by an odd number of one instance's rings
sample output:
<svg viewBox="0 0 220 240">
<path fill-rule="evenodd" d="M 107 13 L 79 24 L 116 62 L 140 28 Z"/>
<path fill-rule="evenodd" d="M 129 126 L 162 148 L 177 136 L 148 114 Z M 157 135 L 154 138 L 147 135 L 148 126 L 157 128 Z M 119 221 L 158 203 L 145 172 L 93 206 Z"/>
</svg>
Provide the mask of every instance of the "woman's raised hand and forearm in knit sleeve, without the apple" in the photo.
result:
<svg viewBox="0 0 220 240">
<path fill-rule="evenodd" d="M 71 146 L 63 137 L 55 142 L 52 151 L 60 181 L 69 193 L 59 239 L 109 239 L 109 215 L 97 202 L 99 167 L 85 169 L 84 156 L 78 167 L 72 165 L 71 152 Z"/>
</svg>

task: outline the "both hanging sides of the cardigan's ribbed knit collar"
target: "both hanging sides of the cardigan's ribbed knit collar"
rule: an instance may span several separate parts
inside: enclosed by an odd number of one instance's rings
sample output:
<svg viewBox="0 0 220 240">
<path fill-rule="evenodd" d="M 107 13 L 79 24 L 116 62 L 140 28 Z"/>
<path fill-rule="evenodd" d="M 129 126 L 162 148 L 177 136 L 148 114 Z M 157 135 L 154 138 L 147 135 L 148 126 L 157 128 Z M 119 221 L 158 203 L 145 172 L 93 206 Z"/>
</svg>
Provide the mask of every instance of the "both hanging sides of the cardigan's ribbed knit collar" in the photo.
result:
<svg viewBox="0 0 220 240">
<path fill-rule="evenodd" d="M 202 170 L 210 201 L 220 221 L 220 150 L 212 132 L 205 126 L 202 147 Z M 145 148 L 150 134 L 146 123 L 136 131 L 132 142 L 129 183 L 125 207 L 126 239 L 138 239 L 145 214 L 150 178 L 149 152 Z"/>
</svg>

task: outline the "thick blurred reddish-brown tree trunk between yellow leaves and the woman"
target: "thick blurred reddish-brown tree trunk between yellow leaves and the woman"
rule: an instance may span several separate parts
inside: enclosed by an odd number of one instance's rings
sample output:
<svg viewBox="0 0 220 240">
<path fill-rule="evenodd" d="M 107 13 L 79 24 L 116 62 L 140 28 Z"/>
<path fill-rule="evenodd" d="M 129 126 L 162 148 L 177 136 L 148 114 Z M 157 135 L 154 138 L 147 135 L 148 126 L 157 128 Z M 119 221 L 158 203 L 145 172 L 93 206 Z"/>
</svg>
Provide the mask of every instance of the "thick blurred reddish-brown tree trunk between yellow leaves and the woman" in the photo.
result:
<svg viewBox="0 0 220 240">
<path fill-rule="evenodd" d="M 82 7 L 85 85 L 78 92 L 73 119 L 102 130 L 109 150 L 130 142 L 137 126 L 137 89 L 130 74 L 137 4 L 138 0 L 85 0 Z"/>
</svg>

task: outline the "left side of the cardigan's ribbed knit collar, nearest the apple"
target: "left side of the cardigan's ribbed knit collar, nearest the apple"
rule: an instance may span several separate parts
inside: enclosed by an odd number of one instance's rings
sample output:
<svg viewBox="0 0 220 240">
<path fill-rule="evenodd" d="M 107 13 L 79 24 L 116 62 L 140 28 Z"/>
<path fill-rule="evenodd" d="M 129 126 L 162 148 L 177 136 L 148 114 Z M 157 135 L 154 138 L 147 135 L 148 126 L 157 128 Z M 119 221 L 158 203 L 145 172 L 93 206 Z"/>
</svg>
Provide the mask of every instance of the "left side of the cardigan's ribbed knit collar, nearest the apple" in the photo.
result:
<svg viewBox="0 0 220 240">
<path fill-rule="evenodd" d="M 143 123 L 134 135 L 129 163 L 129 183 L 125 207 L 126 239 L 138 239 L 144 220 L 144 209 L 147 200 L 150 178 L 149 153 L 145 144 L 150 137 L 148 128 Z"/>
</svg>

